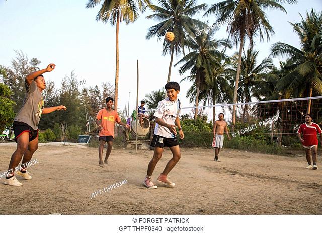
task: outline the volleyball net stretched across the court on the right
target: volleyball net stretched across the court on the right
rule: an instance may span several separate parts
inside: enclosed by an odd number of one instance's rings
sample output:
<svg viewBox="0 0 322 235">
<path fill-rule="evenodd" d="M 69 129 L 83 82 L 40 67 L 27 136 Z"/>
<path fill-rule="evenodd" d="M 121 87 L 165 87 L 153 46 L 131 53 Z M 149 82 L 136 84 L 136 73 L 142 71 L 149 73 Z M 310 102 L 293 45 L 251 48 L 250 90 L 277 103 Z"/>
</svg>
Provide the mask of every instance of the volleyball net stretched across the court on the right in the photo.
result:
<svg viewBox="0 0 322 235">
<path fill-rule="evenodd" d="M 232 108 L 236 105 L 235 125 L 232 125 Z M 192 121 L 197 108 L 197 116 L 208 127 L 196 127 Z M 299 146 L 296 132 L 305 122 L 304 115 L 311 114 L 312 121 L 322 125 L 322 96 L 268 100 L 237 104 L 215 104 L 181 108 L 181 121 L 189 125 L 183 127 L 184 133 L 193 133 L 198 138 L 202 133 L 212 132 L 213 119 L 218 120 L 218 114 L 224 114 L 231 138 L 249 141 L 262 141 L 267 144 L 276 143 L 280 146 Z M 195 120 L 194 120 L 195 121 Z M 198 121 L 196 120 L 195 123 Z M 198 124 L 197 124 L 198 125 Z M 209 136 L 210 137 L 210 136 Z M 241 143 L 243 144 L 243 143 Z M 251 142 L 250 142 L 251 144 Z"/>
</svg>

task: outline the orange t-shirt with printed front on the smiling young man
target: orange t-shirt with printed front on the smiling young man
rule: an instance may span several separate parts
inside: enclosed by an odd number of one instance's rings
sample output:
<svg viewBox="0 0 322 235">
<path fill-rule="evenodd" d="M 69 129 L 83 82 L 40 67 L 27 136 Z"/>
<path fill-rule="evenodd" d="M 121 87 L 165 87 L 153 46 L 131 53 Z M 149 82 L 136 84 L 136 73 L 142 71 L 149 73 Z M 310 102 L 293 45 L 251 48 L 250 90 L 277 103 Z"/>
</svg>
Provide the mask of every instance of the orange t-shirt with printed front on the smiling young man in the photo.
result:
<svg viewBox="0 0 322 235">
<path fill-rule="evenodd" d="M 109 136 L 114 138 L 114 122 L 120 122 L 121 118 L 115 110 L 107 112 L 106 109 L 101 109 L 97 114 L 96 118 L 101 120 L 101 126 L 103 130 L 100 131 L 99 136 Z"/>
</svg>

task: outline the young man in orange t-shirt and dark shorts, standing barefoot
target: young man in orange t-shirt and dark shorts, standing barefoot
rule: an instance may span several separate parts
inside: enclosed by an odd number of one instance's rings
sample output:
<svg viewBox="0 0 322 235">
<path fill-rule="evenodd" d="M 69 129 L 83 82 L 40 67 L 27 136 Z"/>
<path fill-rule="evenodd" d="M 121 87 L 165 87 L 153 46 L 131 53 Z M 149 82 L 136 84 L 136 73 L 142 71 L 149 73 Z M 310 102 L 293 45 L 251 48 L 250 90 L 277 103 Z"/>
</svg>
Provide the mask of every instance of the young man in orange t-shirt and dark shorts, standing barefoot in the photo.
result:
<svg viewBox="0 0 322 235">
<path fill-rule="evenodd" d="M 118 124 L 120 124 L 121 126 L 125 126 L 126 128 L 130 128 L 129 125 L 121 121 L 121 118 L 119 117 L 118 113 L 112 109 L 113 102 L 114 102 L 114 99 L 112 97 L 106 98 L 105 99 L 106 108 L 101 109 L 99 111 L 95 120 L 96 124 L 98 125 L 98 129 L 100 131 L 99 165 L 102 168 L 105 167 L 104 163 L 108 164 L 107 160 L 112 151 L 112 145 L 113 145 L 113 139 L 114 139 L 114 122 L 117 122 Z M 103 149 L 104 149 L 105 142 L 107 142 L 107 150 L 106 150 L 105 160 L 103 163 Z"/>
</svg>

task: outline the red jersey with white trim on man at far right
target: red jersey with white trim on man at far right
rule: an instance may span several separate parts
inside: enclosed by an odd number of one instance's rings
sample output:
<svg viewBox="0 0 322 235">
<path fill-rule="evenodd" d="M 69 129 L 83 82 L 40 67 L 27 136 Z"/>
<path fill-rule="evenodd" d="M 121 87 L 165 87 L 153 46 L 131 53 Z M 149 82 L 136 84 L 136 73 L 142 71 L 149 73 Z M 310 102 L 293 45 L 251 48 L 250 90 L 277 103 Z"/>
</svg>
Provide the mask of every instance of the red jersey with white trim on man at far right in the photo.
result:
<svg viewBox="0 0 322 235">
<path fill-rule="evenodd" d="M 318 144 L 317 134 L 321 134 L 322 130 L 321 127 L 314 122 L 312 122 L 311 125 L 303 123 L 300 125 L 300 128 L 298 128 L 297 133 L 303 134 L 304 146 L 312 146 Z"/>
</svg>

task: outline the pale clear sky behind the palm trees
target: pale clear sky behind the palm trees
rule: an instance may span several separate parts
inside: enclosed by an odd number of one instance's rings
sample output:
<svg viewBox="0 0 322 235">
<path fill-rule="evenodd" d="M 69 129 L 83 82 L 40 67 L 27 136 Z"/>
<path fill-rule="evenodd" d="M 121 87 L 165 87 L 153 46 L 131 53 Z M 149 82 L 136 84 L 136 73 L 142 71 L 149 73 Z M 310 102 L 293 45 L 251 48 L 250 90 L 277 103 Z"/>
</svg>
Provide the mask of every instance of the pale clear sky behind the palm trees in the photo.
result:
<svg viewBox="0 0 322 235">
<path fill-rule="evenodd" d="M 102 82 L 115 82 L 115 27 L 95 20 L 100 5 L 86 9 L 83 0 L 0 0 L 0 64 L 10 66 L 15 58 L 14 50 L 22 50 L 31 59 L 41 61 L 40 68 L 55 63 L 53 72 L 45 73 L 45 79 L 55 82 L 56 88 L 65 75 L 74 71 L 78 80 L 85 79 L 86 86 L 95 86 Z M 153 3 L 156 1 L 152 0 Z M 217 0 L 198 0 L 208 7 Z M 297 5 L 283 4 L 287 14 L 281 11 L 268 11 L 267 17 L 275 34 L 270 41 L 255 40 L 254 49 L 259 51 L 258 63 L 270 53 L 275 42 L 284 42 L 299 48 L 298 37 L 289 22 L 299 22 L 302 14 L 311 8 L 322 10 L 321 0 L 299 0 Z M 119 109 L 128 105 L 130 92 L 130 110 L 136 105 L 136 61 L 139 60 L 139 100 L 145 94 L 163 88 L 167 82 L 170 55 L 162 56 L 162 41 L 157 38 L 146 40 L 147 29 L 158 22 L 145 19 L 151 11 L 141 14 L 139 19 L 129 25 L 120 24 L 119 28 Z M 194 18 L 215 22 L 215 17 L 203 17 L 203 13 Z M 226 25 L 215 38 L 227 38 Z M 229 54 L 237 51 L 234 48 Z M 176 64 L 182 56 L 174 58 Z M 283 58 L 280 58 L 284 60 Z M 274 59 L 278 65 L 279 59 Z M 179 75 L 178 68 L 172 68 L 171 81 L 179 82 L 187 75 Z M 193 106 L 185 97 L 191 86 L 189 82 L 180 83 L 179 98 L 183 107 Z M 184 113 L 189 112 L 186 110 Z M 210 111 L 210 114 L 212 112 Z M 210 115 L 211 116 L 211 115 Z"/>
</svg>

